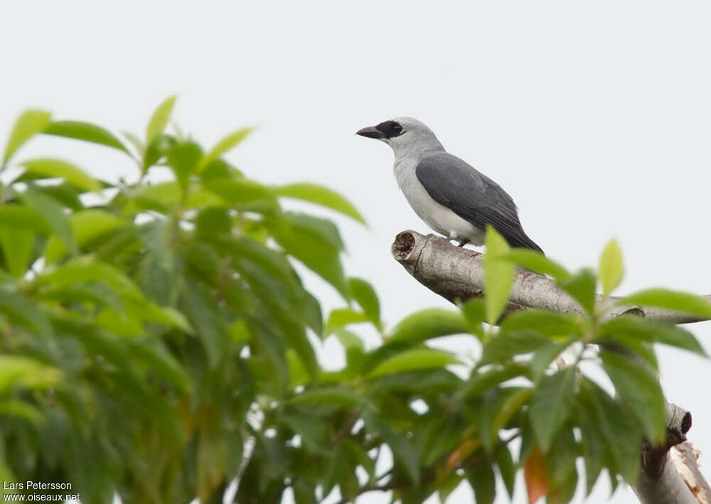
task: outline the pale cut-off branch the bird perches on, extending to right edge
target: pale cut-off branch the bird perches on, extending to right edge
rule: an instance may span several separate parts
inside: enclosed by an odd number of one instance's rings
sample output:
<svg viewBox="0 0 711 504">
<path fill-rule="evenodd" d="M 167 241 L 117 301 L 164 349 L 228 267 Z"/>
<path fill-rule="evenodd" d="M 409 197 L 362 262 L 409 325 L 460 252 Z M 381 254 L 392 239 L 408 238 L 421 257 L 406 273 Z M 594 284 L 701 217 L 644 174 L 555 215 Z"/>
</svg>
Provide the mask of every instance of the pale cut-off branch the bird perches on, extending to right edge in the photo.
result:
<svg viewBox="0 0 711 504">
<path fill-rule="evenodd" d="M 435 235 L 420 235 L 416 231 L 403 231 L 391 247 L 392 257 L 400 262 L 417 282 L 427 289 L 454 302 L 479 297 L 483 293 L 483 254 L 464 247 L 455 247 Z M 711 295 L 705 296 L 711 301 Z M 692 323 L 707 320 L 688 313 L 642 308 L 640 306 L 615 306 L 619 297 L 610 296 L 605 302 L 606 316 L 617 316 L 634 308 L 636 314 L 651 320 Z M 511 289 L 509 310 L 538 308 L 567 313 L 582 313 L 574 299 L 555 282 L 540 274 L 519 269 Z"/>
</svg>

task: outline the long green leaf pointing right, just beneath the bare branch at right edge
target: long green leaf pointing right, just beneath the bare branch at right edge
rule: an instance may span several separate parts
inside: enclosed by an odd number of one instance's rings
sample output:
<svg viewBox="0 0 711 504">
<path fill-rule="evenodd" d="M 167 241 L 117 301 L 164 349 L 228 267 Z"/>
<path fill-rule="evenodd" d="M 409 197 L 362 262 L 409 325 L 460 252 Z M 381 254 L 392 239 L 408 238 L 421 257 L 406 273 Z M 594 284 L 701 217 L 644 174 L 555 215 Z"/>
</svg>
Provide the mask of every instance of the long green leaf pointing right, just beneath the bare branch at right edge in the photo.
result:
<svg viewBox="0 0 711 504">
<path fill-rule="evenodd" d="M 633 315 L 617 316 L 602 323 L 597 329 L 597 338 L 620 341 L 626 345 L 638 341 L 663 343 L 707 357 L 694 335 L 675 323 L 650 321 Z"/>
</svg>

